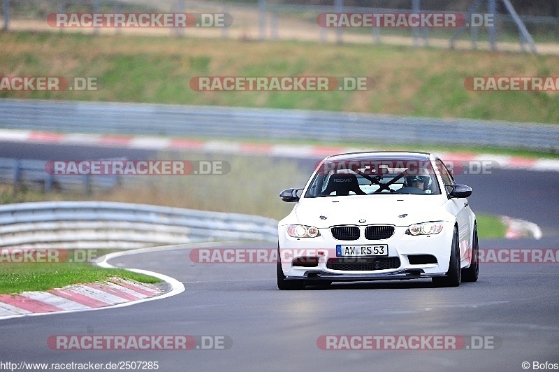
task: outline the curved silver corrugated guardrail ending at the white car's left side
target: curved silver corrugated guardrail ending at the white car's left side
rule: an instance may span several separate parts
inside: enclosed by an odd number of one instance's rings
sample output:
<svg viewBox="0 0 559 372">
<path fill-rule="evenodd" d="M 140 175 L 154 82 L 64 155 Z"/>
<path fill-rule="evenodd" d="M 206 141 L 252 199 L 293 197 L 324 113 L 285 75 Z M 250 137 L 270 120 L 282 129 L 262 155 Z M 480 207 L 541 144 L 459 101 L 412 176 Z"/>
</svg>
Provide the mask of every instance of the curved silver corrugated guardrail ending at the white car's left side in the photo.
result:
<svg viewBox="0 0 559 372">
<path fill-rule="evenodd" d="M 224 240 L 277 241 L 277 221 L 104 201 L 0 206 L 0 248 L 143 248 Z"/>
</svg>

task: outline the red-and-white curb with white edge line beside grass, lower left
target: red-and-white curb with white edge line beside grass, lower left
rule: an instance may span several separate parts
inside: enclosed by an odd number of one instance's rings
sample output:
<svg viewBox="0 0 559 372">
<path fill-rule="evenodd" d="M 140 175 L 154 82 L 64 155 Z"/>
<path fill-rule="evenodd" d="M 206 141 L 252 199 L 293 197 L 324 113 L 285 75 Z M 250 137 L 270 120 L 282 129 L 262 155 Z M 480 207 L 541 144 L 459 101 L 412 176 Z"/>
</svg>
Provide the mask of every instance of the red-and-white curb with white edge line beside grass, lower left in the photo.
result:
<svg viewBox="0 0 559 372">
<path fill-rule="evenodd" d="M 176 247 L 170 246 L 170 248 Z M 108 259 L 154 249 L 161 250 L 162 248 L 115 252 L 101 257 L 102 261 L 98 262 L 97 265 L 114 269 L 115 266 L 108 264 Z M 184 292 L 182 282 L 164 274 L 140 269 L 127 270 L 159 278 L 168 284 L 170 290 L 166 292 L 155 285 L 115 276 L 104 282 L 68 285 L 64 288 L 50 289 L 45 292 L 0 294 L 0 320 L 14 317 L 119 308 L 145 301 L 166 299 L 167 297 Z"/>
</svg>

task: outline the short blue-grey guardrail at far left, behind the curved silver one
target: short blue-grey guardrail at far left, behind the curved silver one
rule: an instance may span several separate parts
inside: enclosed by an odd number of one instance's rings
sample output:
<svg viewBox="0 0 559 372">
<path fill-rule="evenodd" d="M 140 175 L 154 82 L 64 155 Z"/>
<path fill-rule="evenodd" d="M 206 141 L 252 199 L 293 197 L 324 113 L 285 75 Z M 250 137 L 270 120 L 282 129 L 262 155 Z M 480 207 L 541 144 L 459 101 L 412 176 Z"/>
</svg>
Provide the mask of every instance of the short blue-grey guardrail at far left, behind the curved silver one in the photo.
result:
<svg viewBox="0 0 559 372">
<path fill-rule="evenodd" d="M 92 192 L 111 189 L 120 182 L 119 176 L 55 176 L 45 171 L 44 160 L 7 159 L 0 157 L 0 183 L 13 183 L 14 187 L 52 190 L 76 190 Z"/>
</svg>

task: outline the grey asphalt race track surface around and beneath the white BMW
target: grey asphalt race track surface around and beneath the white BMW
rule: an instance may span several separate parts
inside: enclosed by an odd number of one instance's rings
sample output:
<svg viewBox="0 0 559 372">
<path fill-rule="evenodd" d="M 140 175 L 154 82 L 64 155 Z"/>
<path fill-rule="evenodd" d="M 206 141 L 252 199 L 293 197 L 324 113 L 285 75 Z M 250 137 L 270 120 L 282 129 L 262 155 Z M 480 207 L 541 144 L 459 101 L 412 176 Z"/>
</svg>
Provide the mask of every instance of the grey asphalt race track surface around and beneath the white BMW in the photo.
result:
<svg viewBox="0 0 559 372">
<path fill-rule="evenodd" d="M 25 153 L 37 159 L 91 158 L 88 152 L 99 157 L 147 155 L 6 143 L 0 149 L 0 157 Z M 301 162 L 305 169 L 312 164 Z M 559 248 L 556 173 L 499 171 L 456 178 L 474 189 L 474 212 L 530 220 L 544 233 L 539 241 L 480 241 L 481 248 Z M 212 246 L 275 248 L 266 242 Z M 523 362 L 529 362 L 529 370 L 533 362 L 559 364 L 558 264 L 482 264 L 478 282 L 456 288 L 433 288 L 430 280 L 416 280 L 339 283 L 291 292 L 277 290 L 273 263 L 196 264 L 189 258 L 191 249 L 110 261 L 180 280 L 186 291 L 177 296 L 90 313 L 3 320 L 0 362 L 157 361 L 160 371 L 524 371 Z M 52 350 L 47 344 L 56 335 L 177 334 L 226 336 L 233 344 L 226 350 Z M 325 335 L 481 336 L 493 341 L 493 348 L 322 350 L 317 340 Z"/>
</svg>

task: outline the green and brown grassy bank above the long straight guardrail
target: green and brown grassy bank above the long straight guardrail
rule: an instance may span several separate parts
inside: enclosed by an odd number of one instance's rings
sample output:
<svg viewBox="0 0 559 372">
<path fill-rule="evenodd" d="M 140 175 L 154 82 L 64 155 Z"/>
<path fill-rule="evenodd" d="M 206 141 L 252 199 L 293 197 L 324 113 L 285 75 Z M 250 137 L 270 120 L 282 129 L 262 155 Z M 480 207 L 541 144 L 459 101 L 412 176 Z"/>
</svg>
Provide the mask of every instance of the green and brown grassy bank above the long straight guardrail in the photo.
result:
<svg viewBox="0 0 559 372">
<path fill-rule="evenodd" d="M 468 76 L 559 76 L 558 56 L 73 33 L 3 33 L 0 76 L 96 77 L 98 92 L 0 97 L 345 110 L 559 123 L 557 92 L 470 92 Z M 368 76 L 365 92 L 196 92 L 196 76 Z"/>
</svg>

